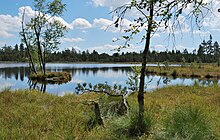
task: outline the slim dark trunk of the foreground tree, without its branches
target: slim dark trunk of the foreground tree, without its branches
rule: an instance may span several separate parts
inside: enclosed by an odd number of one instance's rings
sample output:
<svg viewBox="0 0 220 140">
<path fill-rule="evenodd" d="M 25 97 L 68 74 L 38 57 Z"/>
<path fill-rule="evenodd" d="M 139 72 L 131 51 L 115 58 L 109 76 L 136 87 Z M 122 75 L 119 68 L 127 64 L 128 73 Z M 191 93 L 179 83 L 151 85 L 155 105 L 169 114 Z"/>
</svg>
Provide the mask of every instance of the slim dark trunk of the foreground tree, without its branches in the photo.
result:
<svg viewBox="0 0 220 140">
<path fill-rule="evenodd" d="M 138 106 L 139 106 L 139 127 L 140 132 L 144 133 L 145 128 L 143 124 L 144 121 L 144 85 L 145 85 L 145 71 L 146 71 L 146 64 L 147 64 L 147 54 L 150 48 L 150 40 L 151 40 L 151 32 L 152 32 L 152 24 L 153 24 L 153 2 L 150 4 L 150 16 L 148 19 L 148 29 L 146 34 L 146 42 L 142 56 L 142 67 L 141 67 L 141 76 L 140 76 L 140 85 L 138 91 Z"/>
</svg>

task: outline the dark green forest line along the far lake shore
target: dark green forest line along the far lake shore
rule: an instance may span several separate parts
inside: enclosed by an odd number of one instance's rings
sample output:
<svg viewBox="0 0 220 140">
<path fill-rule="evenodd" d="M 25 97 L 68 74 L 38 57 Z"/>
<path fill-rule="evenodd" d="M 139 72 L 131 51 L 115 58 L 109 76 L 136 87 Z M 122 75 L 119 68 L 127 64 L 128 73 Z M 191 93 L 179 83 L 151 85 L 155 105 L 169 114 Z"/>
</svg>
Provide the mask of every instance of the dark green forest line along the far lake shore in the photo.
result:
<svg viewBox="0 0 220 140">
<path fill-rule="evenodd" d="M 210 47 L 214 46 L 214 47 Z M 211 49 L 210 48 L 215 48 Z M 211 52 L 211 53 L 210 53 Z M 106 53 L 99 54 L 97 51 L 92 52 L 82 51 L 77 52 L 74 48 L 63 51 L 56 51 L 47 54 L 47 62 L 141 62 L 142 56 L 137 52 L 122 52 L 109 55 Z M 203 41 L 198 51 L 188 52 L 187 49 L 183 51 L 172 50 L 164 52 L 151 51 L 147 56 L 148 62 L 202 62 L 211 63 L 219 62 L 220 49 L 217 42 L 212 44 Z M 0 61 L 17 61 L 28 62 L 27 50 L 23 44 L 12 46 L 4 46 L 0 49 Z"/>
</svg>

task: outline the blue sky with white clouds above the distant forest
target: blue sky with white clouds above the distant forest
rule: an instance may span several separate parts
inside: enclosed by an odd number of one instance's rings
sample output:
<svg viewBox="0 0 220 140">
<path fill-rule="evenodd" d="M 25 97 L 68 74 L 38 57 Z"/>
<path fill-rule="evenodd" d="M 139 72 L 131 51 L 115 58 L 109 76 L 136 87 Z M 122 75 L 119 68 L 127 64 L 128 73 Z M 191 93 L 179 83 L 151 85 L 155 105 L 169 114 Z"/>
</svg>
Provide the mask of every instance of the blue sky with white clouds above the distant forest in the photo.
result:
<svg viewBox="0 0 220 140">
<path fill-rule="evenodd" d="M 113 26 L 108 27 L 113 22 L 110 11 L 117 6 L 129 2 L 129 0 L 63 0 L 67 5 L 63 14 L 63 22 L 70 28 L 62 39 L 60 50 L 74 47 L 76 50 L 97 50 L 99 53 L 114 53 L 111 51 L 123 42 L 113 42 L 115 38 L 123 35 L 123 33 L 115 29 Z M 22 8 L 33 12 L 32 0 L 2 0 L 0 4 L 0 47 L 7 45 L 14 46 L 20 43 L 19 31 Z M 187 48 L 189 51 L 198 49 L 203 39 L 208 39 L 212 34 L 213 41 L 220 42 L 220 13 L 214 8 L 216 14 L 212 20 L 207 17 L 204 20 L 204 29 L 198 31 L 192 30 L 186 23 L 182 33 L 176 33 L 175 43 L 168 41 L 166 32 L 157 33 L 151 42 L 151 50 L 164 51 L 166 49 L 183 50 Z M 132 15 L 132 14 L 131 14 Z M 132 15 L 134 16 L 134 15 Z M 128 17 L 124 22 L 124 28 L 131 22 Z M 184 17 L 183 17 L 184 18 Z M 214 20 L 213 20 L 214 19 Z M 143 32 L 142 32 L 143 34 Z M 139 52 L 143 49 L 143 43 L 140 43 L 141 35 L 135 37 L 131 48 L 124 51 Z"/>
</svg>

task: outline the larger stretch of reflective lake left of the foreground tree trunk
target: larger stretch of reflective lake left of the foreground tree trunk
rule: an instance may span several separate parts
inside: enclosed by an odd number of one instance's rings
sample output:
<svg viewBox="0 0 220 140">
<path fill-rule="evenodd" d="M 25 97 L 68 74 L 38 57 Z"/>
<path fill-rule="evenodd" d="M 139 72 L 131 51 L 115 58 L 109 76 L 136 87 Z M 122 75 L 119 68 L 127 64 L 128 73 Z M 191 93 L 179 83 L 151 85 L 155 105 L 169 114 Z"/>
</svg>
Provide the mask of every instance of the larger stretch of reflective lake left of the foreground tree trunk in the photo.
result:
<svg viewBox="0 0 220 140">
<path fill-rule="evenodd" d="M 88 82 L 88 83 L 104 83 L 109 84 L 125 84 L 127 74 L 131 72 L 131 68 L 127 66 L 114 66 L 111 65 L 101 67 L 95 67 L 95 65 L 89 65 L 86 68 L 79 67 L 79 64 L 70 64 L 65 66 L 63 64 L 51 64 L 47 67 L 48 71 L 68 71 L 72 75 L 72 80 L 65 84 L 59 83 L 38 83 L 36 81 L 30 81 L 28 79 L 28 67 L 25 65 L 13 67 L 11 64 L 9 67 L 1 66 L 0 64 L 0 90 L 5 87 L 11 89 L 36 89 L 40 91 L 47 91 L 52 94 L 64 94 L 75 92 L 77 83 Z"/>
</svg>

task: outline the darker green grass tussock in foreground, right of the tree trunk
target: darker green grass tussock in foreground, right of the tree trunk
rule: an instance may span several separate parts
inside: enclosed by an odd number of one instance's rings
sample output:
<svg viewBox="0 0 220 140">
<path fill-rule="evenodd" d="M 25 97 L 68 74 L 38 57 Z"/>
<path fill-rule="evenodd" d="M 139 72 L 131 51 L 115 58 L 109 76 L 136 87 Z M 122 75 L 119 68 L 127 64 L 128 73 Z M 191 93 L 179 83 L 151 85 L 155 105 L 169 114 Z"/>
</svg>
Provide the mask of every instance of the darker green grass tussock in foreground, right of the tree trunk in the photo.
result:
<svg viewBox="0 0 220 140">
<path fill-rule="evenodd" d="M 208 121 L 198 107 L 177 107 L 172 118 L 166 120 L 165 139 L 214 140 Z"/>
</svg>

